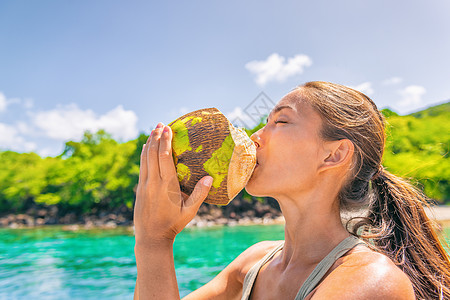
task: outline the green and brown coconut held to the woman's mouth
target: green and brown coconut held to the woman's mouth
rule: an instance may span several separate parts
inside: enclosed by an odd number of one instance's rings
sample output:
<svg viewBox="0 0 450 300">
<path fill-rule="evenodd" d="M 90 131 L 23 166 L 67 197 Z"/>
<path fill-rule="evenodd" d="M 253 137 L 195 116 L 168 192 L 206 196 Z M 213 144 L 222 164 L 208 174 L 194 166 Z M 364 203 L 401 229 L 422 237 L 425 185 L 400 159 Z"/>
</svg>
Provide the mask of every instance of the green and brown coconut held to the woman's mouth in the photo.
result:
<svg viewBox="0 0 450 300">
<path fill-rule="evenodd" d="M 245 187 L 256 165 L 256 147 L 217 108 L 190 112 L 169 124 L 182 192 L 190 195 L 206 175 L 213 178 L 206 203 L 227 205 Z"/>
</svg>

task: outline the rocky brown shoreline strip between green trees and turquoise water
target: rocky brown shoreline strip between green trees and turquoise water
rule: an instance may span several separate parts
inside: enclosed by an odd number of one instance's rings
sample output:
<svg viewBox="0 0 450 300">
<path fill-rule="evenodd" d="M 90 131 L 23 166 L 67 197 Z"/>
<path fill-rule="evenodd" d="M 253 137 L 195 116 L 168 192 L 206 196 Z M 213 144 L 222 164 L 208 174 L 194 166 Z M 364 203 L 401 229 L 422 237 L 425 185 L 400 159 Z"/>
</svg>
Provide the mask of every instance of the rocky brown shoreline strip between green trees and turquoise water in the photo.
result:
<svg viewBox="0 0 450 300">
<path fill-rule="evenodd" d="M 439 227 L 450 226 L 450 206 L 433 206 L 431 209 L 425 209 L 427 216 L 435 221 Z M 106 214 L 104 216 L 86 216 L 82 221 L 73 222 L 73 218 L 66 216 L 60 218 L 63 221 L 50 219 L 45 223 L 43 218 L 30 216 L 27 214 L 8 214 L 0 218 L 0 228 L 23 229 L 23 228 L 43 228 L 47 226 L 61 226 L 63 230 L 89 230 L 89 229 L 114 229 L 114 228 L 133 228 L 132 220 L 126 219 L 120 214 Z M 72 222 L 70 222 L 72 220 Z M 247 215 L 226 218 L 224 216 L 215 217 L 212 215 L 196 215 L 186 228 L 207 228 L 213 226 L 241 226 L 241 225 L 283 225 L 284 217 L 279 214 L 265 214 L 263 217 L 249 217 Z"/>
</svg>

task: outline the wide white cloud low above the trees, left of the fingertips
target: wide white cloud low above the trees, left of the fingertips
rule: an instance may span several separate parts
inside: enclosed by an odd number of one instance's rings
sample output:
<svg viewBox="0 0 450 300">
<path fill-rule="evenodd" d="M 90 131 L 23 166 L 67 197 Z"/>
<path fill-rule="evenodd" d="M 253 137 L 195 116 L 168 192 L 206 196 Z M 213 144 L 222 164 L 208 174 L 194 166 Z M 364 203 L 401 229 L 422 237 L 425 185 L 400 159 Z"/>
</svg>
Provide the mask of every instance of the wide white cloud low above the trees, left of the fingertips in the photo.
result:
<svg viewBox="0 0 450 300">
<path fill-rule="evenodd" d="M 96 132 L 104 129 L 120 140 L 133 139 L 138 134 L 137 115 L 122 105 L 100 116 L 90 109 L 82 110 L 76 104 L 33 112 L 30 116 L 32 124 L 42 135 L 56 140 L 80 140 L 86 130 Z"/>
</svg>

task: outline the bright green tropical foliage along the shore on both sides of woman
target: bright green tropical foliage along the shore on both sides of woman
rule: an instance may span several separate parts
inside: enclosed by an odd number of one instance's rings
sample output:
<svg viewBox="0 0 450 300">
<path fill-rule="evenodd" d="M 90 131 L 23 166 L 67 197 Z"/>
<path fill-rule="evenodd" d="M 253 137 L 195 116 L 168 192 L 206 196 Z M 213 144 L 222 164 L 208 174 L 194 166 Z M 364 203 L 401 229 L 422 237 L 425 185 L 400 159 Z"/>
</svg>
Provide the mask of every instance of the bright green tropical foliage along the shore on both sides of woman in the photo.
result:
<svg viewBox="0 0 450 300">
<path fill-rule="evenodd" d="M 450 103 L 407 116 L 383 113 L 388 123 L 384 166 L 412 179 L 429 197 L 450 203 Z M 131 209 L 145 140 L 141 134 L 118 143 L 104 131 L 86 132 L 82 141 L 67 142 L 57 157 L 0 152 L 0 212 L 19 213 L 32 205 L 78 214 Z"/>
</svg>

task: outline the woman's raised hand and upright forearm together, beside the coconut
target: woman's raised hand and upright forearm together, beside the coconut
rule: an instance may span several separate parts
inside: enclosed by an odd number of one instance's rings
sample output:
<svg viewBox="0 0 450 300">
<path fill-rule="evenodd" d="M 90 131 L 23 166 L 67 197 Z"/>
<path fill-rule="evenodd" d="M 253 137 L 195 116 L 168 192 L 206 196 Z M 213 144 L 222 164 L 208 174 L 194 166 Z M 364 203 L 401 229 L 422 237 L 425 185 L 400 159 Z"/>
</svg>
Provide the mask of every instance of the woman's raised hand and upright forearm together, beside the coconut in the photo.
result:
<svg viewBox="0 0 450 300">
<path fill-rule="evenodd" d="M 195 216 L 211 186 L 205 181 L 208 177 L 204 177 L 191 196 L 180 192 L 171 140 L 170 127 L 159 126 L 152 131 L 141 154 L 134 209 L 138 273 L 135 299 L 180 298 L 173 241 Z"/>
</svg>

